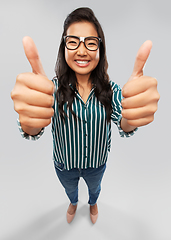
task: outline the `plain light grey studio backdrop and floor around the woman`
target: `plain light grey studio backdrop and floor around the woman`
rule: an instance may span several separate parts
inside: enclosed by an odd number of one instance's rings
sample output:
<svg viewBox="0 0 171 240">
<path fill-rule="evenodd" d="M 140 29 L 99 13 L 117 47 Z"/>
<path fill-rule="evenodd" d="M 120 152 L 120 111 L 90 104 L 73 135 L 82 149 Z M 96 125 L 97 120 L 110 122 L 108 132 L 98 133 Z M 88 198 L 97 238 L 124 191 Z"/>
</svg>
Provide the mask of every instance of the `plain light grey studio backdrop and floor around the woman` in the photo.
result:
<svg viewBox="0 0 171 240">
<path fill-rule="evenodd" d="M 145 75 L 156 77 L 161 95 L 155 121 L 122 139 L 113 125 L 112 151 L 99 199 L 99 219 L 89 220 L 87 188 L 80 182 L 75 220 L 52 163 L 51 127 L 29 142 L 17 129 L 10 92 L 17 74 L 31 71 L 22 38 L 31 36 L 49 79 L 68 13 L 91 7 L 106 36 L 109 74 L 122 87 L 137 50 L 151 39 Z M 170 240 L 170 1 L 1 0 L 0 2 L 0 239 Z"/>
</svg>

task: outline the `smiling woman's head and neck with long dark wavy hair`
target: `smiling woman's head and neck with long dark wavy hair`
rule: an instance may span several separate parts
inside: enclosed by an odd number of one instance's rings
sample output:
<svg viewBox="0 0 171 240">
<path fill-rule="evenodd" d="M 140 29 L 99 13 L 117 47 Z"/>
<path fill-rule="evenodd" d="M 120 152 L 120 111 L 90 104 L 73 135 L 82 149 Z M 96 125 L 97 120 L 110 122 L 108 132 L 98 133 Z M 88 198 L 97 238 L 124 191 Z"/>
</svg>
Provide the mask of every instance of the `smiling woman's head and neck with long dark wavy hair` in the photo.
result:
<svg viewBox="0 0 171 240">
<path fill-rule="evenodd" d="M 74 42 L 72 39 L 72 44 L 74 43 L 73 50 L 67 47 L 68 35 L 77 37 L 77 44 L 75 43 L 76 39 Z M 87 38 L 92 36 L 93 44 L 92 38 L 91 42 L 89 42 L 90 38 Z M 94 39 L 96 39 L 96 43 Z M 90 46 L 94 46 L 94 44 L 96 48 L 93 47 L 92 51 Z M 91 9 L 76 9 L 68 15 L 64 22 L 64 30 L 55 67 L 59 81 L 57 99 L 59 112 L 62 117 L 65 116 L 63 111 L 64 102 L 68 102 L 70 111 L 76 117 L 71 108 L 74 96 L 76 96 L 75 90 L 79 90 L 80 95 L 86 102 L 92 87 L 95 86 L 96 97 L 105 106 L 107 121 L 110 121 L 112 90 L 107 69 L 105 37 L 100 23 Z M 69 84 L 72 84 L 72 89 L 69 87 Z"/>
</svg>

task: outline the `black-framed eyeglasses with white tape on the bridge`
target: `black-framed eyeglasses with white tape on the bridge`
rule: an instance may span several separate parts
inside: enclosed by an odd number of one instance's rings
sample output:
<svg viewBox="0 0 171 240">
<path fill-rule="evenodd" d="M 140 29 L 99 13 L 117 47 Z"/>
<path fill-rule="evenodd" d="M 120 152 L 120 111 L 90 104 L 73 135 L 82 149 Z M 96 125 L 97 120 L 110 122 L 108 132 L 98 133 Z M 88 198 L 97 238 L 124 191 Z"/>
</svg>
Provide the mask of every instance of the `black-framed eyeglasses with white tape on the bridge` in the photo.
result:
<svg viewBox="0 0 171 240">
<path fill-rule="evenodd" d="M 84 46 L 90 51 L 96 51 L 101 42 L 101 38 L 98 37 L 77 37 L 68 35 L 64 37 L 64 43 L 67 49 L 75 50 L 80 46 L 80 43 L 83 42 Z"/>
</svg>

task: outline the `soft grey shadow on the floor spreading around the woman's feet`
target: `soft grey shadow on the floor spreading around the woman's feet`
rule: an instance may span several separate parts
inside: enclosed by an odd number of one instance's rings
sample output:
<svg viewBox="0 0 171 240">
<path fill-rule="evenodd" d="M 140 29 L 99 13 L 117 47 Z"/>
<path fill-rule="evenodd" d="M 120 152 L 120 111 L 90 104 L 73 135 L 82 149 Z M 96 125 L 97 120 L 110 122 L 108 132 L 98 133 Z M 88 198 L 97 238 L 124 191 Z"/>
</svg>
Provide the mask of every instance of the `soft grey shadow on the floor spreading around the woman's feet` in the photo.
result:
<svg viewBox="0 0 171 240">
<path fill-rule="evenodd" d="M 72 223 L 66 221 L 68 203 L 60 205 L 10 232 L 3 240 L 152 240 L 149 228 L 141 220 L 130 214 L 99 202 L 99 218 L 93 225 L 89 216 L 88 204 L 79 202 Z M 85 229 L 87 229 L 85 231 Z"/>
</svg>

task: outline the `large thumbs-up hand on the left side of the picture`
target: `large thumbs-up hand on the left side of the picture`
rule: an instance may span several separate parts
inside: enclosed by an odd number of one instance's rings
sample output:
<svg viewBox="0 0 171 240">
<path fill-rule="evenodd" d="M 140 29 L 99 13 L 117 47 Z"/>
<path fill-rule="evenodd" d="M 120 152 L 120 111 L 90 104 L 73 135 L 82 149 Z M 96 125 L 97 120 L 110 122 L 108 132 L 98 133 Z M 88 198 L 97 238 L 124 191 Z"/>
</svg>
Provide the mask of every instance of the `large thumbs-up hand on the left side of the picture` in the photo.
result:
<svg viewBox="0 0 171 240">
<path fill-rule="evenodd" d="M 23 47 L 33 72 L 17 76 L 11 98 L 22 129 L 36 135 L 50 124 L 54 114 L 54 84 L 47 78 L 38 50 L 30 37 L 23 38 Z"/>
</svg>

